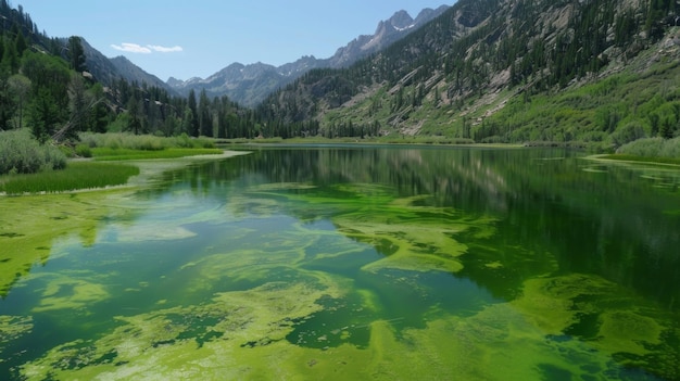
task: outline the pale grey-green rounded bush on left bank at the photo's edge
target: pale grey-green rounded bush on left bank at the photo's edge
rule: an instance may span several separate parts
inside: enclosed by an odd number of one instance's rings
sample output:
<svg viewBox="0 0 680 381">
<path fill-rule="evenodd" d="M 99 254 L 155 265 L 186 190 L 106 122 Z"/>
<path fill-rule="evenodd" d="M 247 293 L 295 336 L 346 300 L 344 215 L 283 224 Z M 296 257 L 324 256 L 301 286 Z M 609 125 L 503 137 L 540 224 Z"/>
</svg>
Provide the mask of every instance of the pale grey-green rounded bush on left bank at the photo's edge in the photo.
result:
<svg viewBox="0 0 680 381">
<path fill-rule="evenodd" d="M 63 169 L 66 155 L 49 143 L 40 144 L 27 129 L 0 132 L 0 175 Z"/>
</svg>

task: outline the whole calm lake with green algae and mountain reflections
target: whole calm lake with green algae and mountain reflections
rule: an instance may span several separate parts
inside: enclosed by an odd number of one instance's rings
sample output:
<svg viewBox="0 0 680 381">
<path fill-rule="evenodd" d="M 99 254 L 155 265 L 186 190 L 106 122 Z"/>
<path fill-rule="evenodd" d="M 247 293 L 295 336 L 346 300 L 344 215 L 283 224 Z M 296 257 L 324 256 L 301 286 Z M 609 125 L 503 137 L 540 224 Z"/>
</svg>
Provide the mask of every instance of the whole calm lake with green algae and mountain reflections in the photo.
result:
<svg viewBox="0 0 680 381">
<path fill-rule="evenodd" d="M 255 149 L 43 196 L 75 231 L 0 228 L 41 253 L 0 257 L 0 379 L 679 380 L 680 170 L 580 155 Z"/>
</svg>

